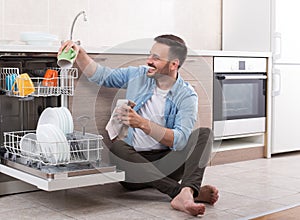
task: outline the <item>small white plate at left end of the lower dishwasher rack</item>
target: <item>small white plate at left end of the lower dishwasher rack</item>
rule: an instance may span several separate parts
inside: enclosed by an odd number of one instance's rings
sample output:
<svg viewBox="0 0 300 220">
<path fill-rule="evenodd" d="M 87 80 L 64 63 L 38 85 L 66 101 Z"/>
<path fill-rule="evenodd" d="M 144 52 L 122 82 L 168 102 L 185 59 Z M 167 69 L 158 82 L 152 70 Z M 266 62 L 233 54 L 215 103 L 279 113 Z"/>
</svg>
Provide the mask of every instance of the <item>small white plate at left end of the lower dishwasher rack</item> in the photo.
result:
<svg viewBox="0 0 300 220">
<path fill-rule="evenodd" d="M 20 140 L 21 154 L 24 156 L 38 157 L 40 152 L 38 150 L 36 141 L 36 134 L 25 134 Z"/>
</svg>

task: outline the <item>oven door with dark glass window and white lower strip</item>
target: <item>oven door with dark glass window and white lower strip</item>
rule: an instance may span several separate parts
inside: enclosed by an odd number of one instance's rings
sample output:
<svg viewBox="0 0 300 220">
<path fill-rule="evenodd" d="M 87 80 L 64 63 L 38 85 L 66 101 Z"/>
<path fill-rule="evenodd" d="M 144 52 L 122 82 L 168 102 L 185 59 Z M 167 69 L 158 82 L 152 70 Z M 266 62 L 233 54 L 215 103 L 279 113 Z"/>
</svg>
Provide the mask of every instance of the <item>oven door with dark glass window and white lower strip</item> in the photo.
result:
<svg viewBox="0 0 300 220">
<path fill-rule="evenodd" d="M 216 137 L 265 131 L 266 75 L 215 74 Z"/>
</svg>

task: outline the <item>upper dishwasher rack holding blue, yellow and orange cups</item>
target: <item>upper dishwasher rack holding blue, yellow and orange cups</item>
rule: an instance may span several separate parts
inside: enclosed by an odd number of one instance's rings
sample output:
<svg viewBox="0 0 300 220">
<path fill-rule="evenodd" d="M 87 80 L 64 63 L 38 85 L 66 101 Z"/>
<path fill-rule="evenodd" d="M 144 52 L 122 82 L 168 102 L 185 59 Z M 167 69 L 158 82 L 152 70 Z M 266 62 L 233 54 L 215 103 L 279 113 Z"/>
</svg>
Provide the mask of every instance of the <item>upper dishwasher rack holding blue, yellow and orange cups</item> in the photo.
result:
<svg viewBox="0 0 300 220">
<path fill-rule="evenodd" d="M 20 76 L 18 68 L 0 68 L 0 89 L 6 92 L 8 96 L 15 97 L 46 97 L 46 96 L 59 96 L 59 95 L 74 95 L 74 80 L 78 78 L 78 69 L 60 69 L 49 68 L 42 70 L 46 73 L 47 70 L 54 70 L 57 72 L 57 76 L 45 77 L 32 77 L 30 80 L 32 84 L 28 84 L 25 81 L 27 78 L 19 78 L 19 82 L 13 87 L 13 83 L 16 77 Z M 40 71 L 41 72 L 41 71 Z M 13 78 L 11 78 L 13 76 Z M 10 80 L 10 81 L 9 81 Z M 12 82 L 13 81 L 13 82 Z M 50 82 L 50 83 L 49 83 Z M 18 84 L 20 86 L 18 86 Z M 30 94 L 26 94 L 26 90 L 34 90 Z M 26 94 L 26 95 L 24 95 Z"/>
</svg>

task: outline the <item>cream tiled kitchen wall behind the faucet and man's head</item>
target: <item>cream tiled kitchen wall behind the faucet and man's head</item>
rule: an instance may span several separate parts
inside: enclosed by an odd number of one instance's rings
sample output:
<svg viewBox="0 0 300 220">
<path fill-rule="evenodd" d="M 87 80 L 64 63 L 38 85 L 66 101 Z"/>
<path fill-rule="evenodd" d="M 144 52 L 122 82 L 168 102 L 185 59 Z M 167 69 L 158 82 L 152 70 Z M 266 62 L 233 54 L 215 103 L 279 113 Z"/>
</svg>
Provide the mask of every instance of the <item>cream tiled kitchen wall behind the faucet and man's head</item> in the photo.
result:
<svg viewBox="0 0 300 220">
<path fill-rule="evenodd" d="M 0 40 L 20 40 L 21 32 L 70 37 L 87 46 L 115 46 L 164 33 L 183 37 L 191 49 L 221 49 L 222 0 L 0 0 Z M 14 42 L 20 43 L 20 42 Z"/>
</svg>

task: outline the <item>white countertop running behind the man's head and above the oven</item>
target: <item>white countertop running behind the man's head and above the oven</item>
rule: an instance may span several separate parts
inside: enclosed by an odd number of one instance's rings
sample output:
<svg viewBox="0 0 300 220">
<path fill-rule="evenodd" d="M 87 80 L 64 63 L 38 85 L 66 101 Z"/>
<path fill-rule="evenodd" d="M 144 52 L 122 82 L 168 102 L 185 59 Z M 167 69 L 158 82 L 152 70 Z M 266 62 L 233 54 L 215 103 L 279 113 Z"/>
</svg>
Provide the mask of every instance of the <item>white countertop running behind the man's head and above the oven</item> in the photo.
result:
<svg viewBox="0 0 300 220">
<path fill-rule="evenodd" d="M 116 47 L 89 47 L 83 46 L 88 53 L 104 54 L 148 54 L 149 49 L 144 48 L 116 48 Z M 37 46 L 37 45 L 0 45 L 0 53 L 56 53 L 59 45 Z M 223 50 L 189 50 L 189 55 L 197 56 L 249 56 L 249 57 L 271 57 L 271 52 L 249 52 L 249 51 L 223 51 Z"/>
</svg>

